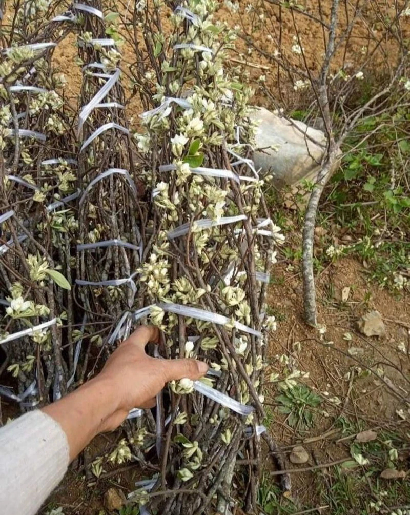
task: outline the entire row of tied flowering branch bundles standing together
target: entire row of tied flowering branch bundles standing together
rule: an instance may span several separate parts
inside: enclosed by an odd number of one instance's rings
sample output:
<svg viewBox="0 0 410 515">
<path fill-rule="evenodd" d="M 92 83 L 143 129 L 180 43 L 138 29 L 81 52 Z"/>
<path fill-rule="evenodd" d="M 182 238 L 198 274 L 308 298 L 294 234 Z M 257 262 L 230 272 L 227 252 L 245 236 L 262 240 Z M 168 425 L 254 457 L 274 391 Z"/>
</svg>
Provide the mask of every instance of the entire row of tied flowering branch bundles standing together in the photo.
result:
<svg viewBox="0 0 410 515">
<path fill-rule="evenodd" d="M 27 6 L 0 70 L 0 348 L 19 390 L 0 393 L 22 409 L 58 399 L 153 323 L 154 356 L 202 359 L 210 373 L 171 382 L 155 416 L 130 413 L 112 461 L 159 471 L 132 500 L 199 515 L 240 499 L 252 512 L 269 441 L 265 293 L 283 236 L 252 162 L 252 91 L 224 67 L 235 34 L 213 22 L 212 0 L 124 9 L 127 73 L 146 109 L 132 134 L 115 16 L 93 0 L 38 27 Z M 78 34 L 78 115 L 52 67 L 66 31 Z"/>
</svg>

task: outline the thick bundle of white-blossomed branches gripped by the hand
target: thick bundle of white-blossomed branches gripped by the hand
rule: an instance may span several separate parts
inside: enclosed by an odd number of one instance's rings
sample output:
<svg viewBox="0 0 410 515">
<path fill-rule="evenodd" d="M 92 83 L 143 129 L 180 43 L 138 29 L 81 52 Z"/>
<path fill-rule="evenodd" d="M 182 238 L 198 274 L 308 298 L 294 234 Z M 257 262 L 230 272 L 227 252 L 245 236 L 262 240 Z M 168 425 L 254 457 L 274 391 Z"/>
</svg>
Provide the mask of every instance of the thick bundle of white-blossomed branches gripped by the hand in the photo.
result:
<svg viewBox="0 0 410 515">
<path fill-rule="evenodd" d="M 136 136 L 156 234 L 140 281 L 164 334 L 159 354 L 203 359 L 211 373 L 203 382 L 171 383 L 158 396 L 161 474 L 150 506 L 199 514 L 213 504 L 226 513 L 239 496 L 251 511 L 263 432 L 263 332 L 275 323 L 264 314 L 264 297 L 272 243 L 281 235 L 249 159 L 252 91 L 223 65 L 234 33 L 212 22 L 215 2 L 191 1 L 170 16 L 174 28 L 165 38 L 160 4 L 134 13 L 144 36 L 135 82 L 156 106 L 142 115 Z M 237 476 L 240 492 L 233 487 L 237 457 L 249 465 Z"/>
</svg>

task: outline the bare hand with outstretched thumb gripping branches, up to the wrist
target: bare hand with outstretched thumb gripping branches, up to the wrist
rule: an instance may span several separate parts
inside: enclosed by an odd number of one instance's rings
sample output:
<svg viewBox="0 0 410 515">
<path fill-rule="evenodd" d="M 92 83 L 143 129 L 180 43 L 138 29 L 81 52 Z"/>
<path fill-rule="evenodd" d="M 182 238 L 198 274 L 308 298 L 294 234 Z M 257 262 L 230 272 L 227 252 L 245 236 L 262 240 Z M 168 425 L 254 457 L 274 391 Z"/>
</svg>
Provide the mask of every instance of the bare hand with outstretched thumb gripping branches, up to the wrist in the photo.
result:
<svg viewBox="0 0 410 515">
<path fill-rule="evenodd" d="M 148 342 L 157 343 L 159 331 L 142 325 L 124 341 L 106 361 L 96 377 L 109 385 L 116 406 L 103 423 L 101 431 L 112 431 L 132 408 L 155 406 L 156 394 L 168 381 L 188 377 L 196 380 L 206 374 L 208 366 L 195 359 L 157 359 L 145 353 Z"/>
</svg>

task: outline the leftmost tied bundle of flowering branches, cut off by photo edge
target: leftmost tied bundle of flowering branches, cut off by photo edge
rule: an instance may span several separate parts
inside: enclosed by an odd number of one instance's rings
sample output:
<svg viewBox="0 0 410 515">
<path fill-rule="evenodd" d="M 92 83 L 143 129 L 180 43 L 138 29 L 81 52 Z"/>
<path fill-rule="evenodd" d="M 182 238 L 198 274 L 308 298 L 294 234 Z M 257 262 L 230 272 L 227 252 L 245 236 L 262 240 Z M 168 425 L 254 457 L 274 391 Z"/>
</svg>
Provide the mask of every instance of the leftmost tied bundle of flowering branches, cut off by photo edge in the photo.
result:
<svg viewBox="0 0 410 515">
<path fill-rule="evenodd" d="M 41 32 L 46 10 L 45 4 L 17 6 L 0 65 L 0 297 L 6 311 L 0 339 L 2 369 L 18 377 L 19 395 L 2 393 L 24 400 L 23 406 L 48 399 L 51 390 L 59 397 L 73 365 L 72 354 L 62 357 L 60 326 L 69 287 L 66 247 L 77 226 L 61 208 L 78 196 L 75 140 L 72 115 L 57 93 L 62 77 L 51 65 L 65 29 L 57 34 L 59 23 L 52 21 Z"/>
</svg>

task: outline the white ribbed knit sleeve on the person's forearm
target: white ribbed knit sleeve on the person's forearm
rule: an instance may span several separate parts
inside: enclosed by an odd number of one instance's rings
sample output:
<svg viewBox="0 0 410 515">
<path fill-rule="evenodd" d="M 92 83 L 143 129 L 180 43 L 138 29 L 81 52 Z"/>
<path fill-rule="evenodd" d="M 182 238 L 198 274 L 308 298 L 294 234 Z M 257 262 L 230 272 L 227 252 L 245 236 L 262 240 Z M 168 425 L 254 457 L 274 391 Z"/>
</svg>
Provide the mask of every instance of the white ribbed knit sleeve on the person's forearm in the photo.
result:
<svg viewBox="0 0 410 515">
<path fill-rule="evenodd" d="M 0 511 L 34 515 L 63 478 L 69 461 L 61 426 L 40 410 L 0 427 Z"/>
</svg>

